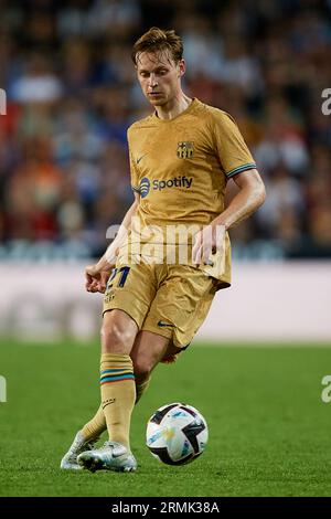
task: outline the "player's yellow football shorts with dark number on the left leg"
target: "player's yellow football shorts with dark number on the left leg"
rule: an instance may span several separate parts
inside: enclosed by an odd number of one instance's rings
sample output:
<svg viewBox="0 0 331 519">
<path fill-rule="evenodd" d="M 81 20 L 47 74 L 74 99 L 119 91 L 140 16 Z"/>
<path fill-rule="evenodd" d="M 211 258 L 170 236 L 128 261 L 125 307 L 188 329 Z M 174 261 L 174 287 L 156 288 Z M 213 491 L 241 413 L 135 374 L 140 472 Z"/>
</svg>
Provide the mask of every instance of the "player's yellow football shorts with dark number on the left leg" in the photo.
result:
<svg viewBox="0 0 331 519">
<path fill-rule="evenodd" d="M 139 330 L 148 330 L 185 348 L 203 324 L 216 292 L 213 277 L 188 265 L 130 264 L 114 268 L 104 313 L 124 310 Z"/>
</svg>

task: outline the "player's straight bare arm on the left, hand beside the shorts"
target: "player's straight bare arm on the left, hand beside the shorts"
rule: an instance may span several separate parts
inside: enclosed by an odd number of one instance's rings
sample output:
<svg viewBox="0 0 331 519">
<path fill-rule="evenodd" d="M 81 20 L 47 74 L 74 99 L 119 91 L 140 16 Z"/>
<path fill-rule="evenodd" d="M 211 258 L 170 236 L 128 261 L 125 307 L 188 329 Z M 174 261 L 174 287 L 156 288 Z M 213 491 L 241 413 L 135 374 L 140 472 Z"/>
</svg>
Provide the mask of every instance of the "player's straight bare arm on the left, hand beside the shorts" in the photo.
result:
<svg viewBox="0 0 331 519">
<path fill-rule="evenodd" d="M 85 287 L 87 292 L 105 292 L 109 274 L 115 267 L 118 250 L 127 237 L 131 219 L 136 214 L 138 205 L 139 194 L 135 192 L 135 202 L 126 213 L 115 240 L 95 265 L 88 265 L 85 268 Z"/>
</svg>

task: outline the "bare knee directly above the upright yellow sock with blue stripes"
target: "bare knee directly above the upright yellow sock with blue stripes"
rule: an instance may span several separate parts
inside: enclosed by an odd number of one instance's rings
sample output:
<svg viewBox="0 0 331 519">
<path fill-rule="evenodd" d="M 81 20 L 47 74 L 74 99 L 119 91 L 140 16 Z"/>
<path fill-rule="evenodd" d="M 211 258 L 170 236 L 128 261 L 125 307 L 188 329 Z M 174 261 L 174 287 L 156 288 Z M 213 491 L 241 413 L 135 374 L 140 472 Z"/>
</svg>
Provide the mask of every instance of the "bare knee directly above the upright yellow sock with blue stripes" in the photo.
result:
<svg viewBox="0 0 331 519">
<path fill-rule="evenodd" d="M 104 314 L 102 352 L 129 354 L 137 337 L 138 326 L 125 311 L 114 309 Z"/>
</svg>

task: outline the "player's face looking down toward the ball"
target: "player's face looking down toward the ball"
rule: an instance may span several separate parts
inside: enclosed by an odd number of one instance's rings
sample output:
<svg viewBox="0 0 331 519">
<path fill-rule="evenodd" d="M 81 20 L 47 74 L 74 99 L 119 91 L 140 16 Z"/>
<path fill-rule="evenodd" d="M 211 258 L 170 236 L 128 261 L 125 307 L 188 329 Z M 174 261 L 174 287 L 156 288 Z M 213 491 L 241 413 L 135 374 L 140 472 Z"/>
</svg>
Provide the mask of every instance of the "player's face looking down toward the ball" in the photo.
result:
<svg viewBox="0 0 331 519">
<path fill-rule="evenodd" d="M 184 72 L 184 61 L 175 63 L 167 52 L 142 52 L 137 60 L 138 81 L 153 106 L 164 106 L 179 95 Z"/>
</svg>

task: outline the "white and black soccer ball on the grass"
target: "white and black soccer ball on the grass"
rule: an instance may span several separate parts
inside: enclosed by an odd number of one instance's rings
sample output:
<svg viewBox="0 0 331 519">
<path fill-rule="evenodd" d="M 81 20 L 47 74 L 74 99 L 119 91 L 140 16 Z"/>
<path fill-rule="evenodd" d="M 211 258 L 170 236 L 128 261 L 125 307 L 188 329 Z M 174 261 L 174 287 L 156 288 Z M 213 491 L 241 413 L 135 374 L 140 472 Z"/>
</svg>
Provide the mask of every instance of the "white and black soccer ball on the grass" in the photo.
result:
<svg viewBox="0 0 331 519">
<path fill-rule="evenodd" d="M 146 444 L 167 465 L 193 462 L 205 449 L 207 439 L 206 421 L 192 405 L 163 405 L 147 423 Z"/>
</svg>

